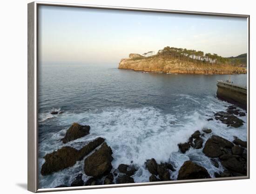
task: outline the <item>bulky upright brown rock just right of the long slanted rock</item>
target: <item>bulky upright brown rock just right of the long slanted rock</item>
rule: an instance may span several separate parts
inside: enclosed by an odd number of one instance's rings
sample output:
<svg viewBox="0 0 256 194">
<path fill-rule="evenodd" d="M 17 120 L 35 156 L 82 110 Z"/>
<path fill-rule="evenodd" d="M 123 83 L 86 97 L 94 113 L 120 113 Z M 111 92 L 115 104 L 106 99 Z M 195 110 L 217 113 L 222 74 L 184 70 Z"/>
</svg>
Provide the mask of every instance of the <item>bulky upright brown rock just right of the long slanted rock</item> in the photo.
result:
<svg viewBox="0 0 256 194">
<path fill-rule="evenodd" d="M 107 143 L 103 143 L 98 150 L 84 160 L 85 174 L 93 177 L 108 174 L 112 169 L 112 154 L 112 149 L 108 147 Z"/>
</svg>

